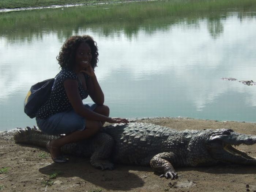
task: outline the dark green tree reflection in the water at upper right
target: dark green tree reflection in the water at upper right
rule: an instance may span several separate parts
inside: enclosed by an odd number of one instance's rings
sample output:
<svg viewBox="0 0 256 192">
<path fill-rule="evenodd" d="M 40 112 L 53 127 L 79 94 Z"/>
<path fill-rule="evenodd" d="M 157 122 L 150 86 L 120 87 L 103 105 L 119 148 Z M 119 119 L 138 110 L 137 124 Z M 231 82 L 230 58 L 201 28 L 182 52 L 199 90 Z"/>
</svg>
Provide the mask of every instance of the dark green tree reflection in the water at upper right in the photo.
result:
<svg viewBox="0 0 256 192">
<path fill-rule="evenodd" d="M 220 34 L 223 32 L 223 25 L 221 19 L 208 19 L 207 28 L 214 39 L 218 38 Z"/>
</svg>

